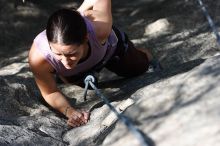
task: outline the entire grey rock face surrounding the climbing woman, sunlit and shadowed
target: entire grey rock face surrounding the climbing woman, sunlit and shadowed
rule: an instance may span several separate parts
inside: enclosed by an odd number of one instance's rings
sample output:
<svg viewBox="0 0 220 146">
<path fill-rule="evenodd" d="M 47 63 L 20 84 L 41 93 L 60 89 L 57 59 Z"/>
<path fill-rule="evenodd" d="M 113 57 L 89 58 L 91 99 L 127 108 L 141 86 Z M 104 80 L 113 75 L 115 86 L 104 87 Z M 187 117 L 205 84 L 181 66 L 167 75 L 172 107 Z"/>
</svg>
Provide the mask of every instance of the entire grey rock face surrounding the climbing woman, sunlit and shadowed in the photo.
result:
<svg viewBox="0 0 220 146">
<path fill-rule="evenodd" d="M 204 2 L 219 24 L 219 3 Z M 34 82 L 27 46 L 44 29 L 54 9 L 77 6 L 78 1 L 27 1 L 16 9 L 13 3 L 0 1 L 0 31 L 4 34 L 0 38 L 0 145 L 139 146 L 140 141 L 92 90 L 84 101 L 82 87 L 59 85 L 73 105 L 91 112 L 87 125 L 71 129 L 43 101 Z M 113 1 L 113 16 L 137 46 L 153 49 L 165 69 L 130 79 L 104 70 L 100 91 L 141 130 L 149 145 L 218 146 L 219 47 L 198 4 L 120 0 Z M 45 20 L 36 26 L 42 18 Z M 161 29 L 156 27 L 159 24 Z M 17 28 L 24 33 L 22 41 Z M 14 44 L 9 43 L 12 41 Z"/>
</svg>

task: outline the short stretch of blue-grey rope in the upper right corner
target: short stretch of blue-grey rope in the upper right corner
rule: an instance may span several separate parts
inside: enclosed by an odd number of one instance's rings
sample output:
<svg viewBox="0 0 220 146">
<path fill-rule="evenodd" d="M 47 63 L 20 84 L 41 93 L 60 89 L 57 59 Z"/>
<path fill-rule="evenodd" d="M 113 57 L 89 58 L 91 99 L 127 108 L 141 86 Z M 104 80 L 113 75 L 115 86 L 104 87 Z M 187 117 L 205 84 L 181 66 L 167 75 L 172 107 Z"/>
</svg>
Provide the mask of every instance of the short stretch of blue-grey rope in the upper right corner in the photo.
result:
<svg viewBox="0 0 220 146">
<path fill-rule="evenodd" d="M 216 28 L 212 18 L 210 17 L 210 15 L 209 15 L 209 13 L 208 13 L 208 11 L 207 11 L 203 1 L 202 0 L 197 0 L 197 1 L 199 2 L 199 5 L 201 6 L 202 12 L 204 13 L 206 19 L 208 20 L 208 23 L 209 23 L 213 33 L 215 34 L 217 42 L 218 42 L 218 44 L 220 46 L 220 35 L 219 35 L 218 31 L 217 31 L 217 28 Z"/>
</svg>

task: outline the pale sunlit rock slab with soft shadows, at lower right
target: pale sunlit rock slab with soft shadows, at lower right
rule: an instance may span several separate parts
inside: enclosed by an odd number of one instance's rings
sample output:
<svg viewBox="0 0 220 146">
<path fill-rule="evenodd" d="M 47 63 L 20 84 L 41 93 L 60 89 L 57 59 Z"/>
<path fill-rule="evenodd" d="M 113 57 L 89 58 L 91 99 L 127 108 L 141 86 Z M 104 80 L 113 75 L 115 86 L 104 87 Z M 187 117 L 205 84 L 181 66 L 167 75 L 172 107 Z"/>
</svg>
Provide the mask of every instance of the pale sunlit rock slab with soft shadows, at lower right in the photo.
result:
<svg viewBox="0 0 220 146">
<path fill-rule="evenodd" d="M 158 146 L 219 145 L 219 62 L 219 56 L 208 59 L 188 72 L 139 89 L 132 94 L 136 102 L 126 115 L 139 122 Z M 131 139 L 119 122 L 104 145 L 138 144 Z"/>
</svg>

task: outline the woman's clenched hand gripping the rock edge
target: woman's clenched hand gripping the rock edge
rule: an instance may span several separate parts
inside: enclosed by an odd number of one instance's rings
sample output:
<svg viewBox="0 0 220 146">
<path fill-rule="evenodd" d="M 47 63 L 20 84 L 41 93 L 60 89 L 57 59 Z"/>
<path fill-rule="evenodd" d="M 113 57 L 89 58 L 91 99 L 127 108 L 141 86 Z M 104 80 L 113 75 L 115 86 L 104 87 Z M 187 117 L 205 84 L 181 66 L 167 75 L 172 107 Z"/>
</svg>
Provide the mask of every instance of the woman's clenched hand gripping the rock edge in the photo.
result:
<svg viewBox="0 0 220 146">
<path fill-rule="evenodd" d="M 67 112 L 67 124 L 71 127 L 79 127 L 85 125 L 89 120 L 90 114 L 86 111 L 77 111 L 73 108 Z"/>
</svg>

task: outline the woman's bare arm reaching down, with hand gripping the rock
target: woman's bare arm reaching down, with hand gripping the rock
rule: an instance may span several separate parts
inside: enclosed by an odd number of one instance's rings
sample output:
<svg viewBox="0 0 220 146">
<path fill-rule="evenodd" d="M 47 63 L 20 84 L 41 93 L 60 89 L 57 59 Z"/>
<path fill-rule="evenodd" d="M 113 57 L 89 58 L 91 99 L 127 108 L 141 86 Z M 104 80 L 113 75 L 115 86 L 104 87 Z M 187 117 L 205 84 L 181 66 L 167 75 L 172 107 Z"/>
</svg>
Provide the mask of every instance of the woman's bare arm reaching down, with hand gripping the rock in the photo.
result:
<svg viewBox="0 0 220 146">
<path fill-rule="evenodd" d="M 45 101 L 51 107 L 63 113 L 68 118 L 69 125 L 75 127 L 85 124 L 88 121 L 88 114 L 76 111 L 58 90 L 52 74 L 52 66 L 36 51 L 34 45 L 32 45 L 29 52 L 29 65 Z"/>
</svg>

